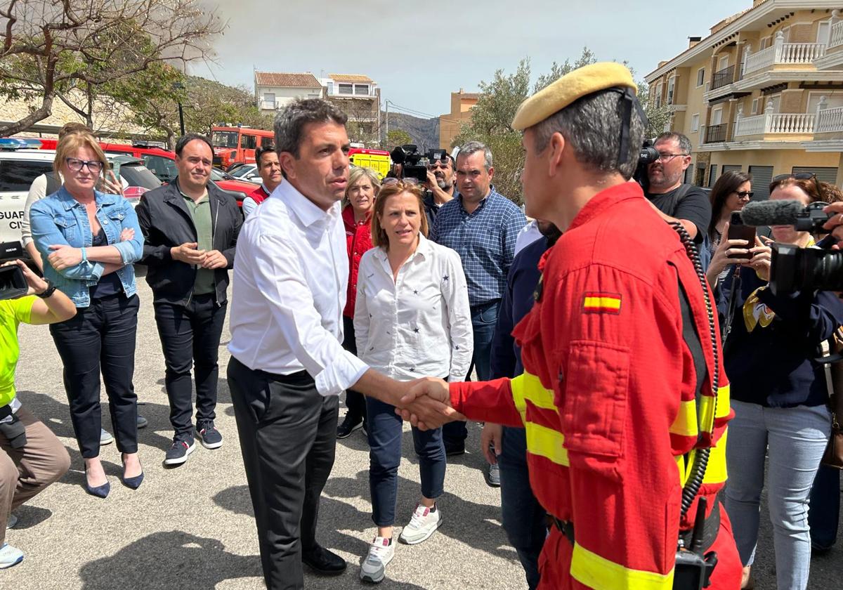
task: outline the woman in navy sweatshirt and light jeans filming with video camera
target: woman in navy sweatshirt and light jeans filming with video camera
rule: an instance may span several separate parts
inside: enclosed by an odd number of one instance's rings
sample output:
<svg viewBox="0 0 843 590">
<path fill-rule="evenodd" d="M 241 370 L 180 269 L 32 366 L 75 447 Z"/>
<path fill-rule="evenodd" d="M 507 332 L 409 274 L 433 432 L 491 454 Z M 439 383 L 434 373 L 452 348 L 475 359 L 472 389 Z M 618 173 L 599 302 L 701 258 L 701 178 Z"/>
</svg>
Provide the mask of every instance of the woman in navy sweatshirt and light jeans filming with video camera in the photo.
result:
<svg viewBox="0 0 843 590">
<path fill-rule="evenodd" d="M 822 200 L 820 185 L 815 177 L 781 176 L 771 184 L 770 200 L 798 200 L 807 206 Z M 772 236 L 776 242 L 803 248 L 813 244 L 809 233 L 789 225 L 773 226 Z M 740 250 L 730 244 L 734 241 L 722 240 L 718 251 Z M 738 281 L 733 276 L 740 267 L 729 272 L 723 284 L 733 285 L 733 301 L 728 304 L 718 289 L 718 308 L 731 328 L 723 346 L 735 411 L 729 425 L 726 509 L 744 566 L 742 587 L 752 585 L 749 570 L 766 483 L 777 585 L 805 588 L 811 556 L 808 493 L 831 426 L 824 367 L 815 358 L 820 343 L 843 324 L 843 302 L 829 291 L 773 294 L 768 286 L 769 246 L 746 248 L 733 261 L 744 268 Z"/>
</svg>

